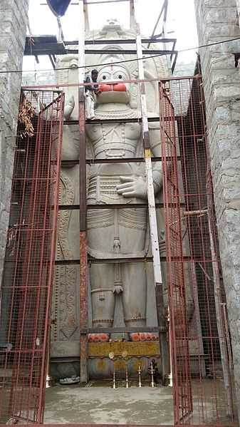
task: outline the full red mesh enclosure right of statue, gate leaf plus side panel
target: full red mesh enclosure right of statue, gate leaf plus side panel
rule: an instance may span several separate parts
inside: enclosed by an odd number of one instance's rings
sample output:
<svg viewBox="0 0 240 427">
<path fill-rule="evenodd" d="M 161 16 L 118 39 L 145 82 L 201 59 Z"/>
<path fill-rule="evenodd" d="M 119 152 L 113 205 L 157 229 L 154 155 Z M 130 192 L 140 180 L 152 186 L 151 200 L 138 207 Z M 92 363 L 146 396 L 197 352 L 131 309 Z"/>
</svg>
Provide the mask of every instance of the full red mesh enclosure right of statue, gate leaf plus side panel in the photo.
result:
<svg viewBox="0 0 240 427">
<path fill-rule="evenodd" d="M 160 84 L 174 421 L 231 426 L 231 344 L 204 119 L 199 77 Z"/>
</svg>

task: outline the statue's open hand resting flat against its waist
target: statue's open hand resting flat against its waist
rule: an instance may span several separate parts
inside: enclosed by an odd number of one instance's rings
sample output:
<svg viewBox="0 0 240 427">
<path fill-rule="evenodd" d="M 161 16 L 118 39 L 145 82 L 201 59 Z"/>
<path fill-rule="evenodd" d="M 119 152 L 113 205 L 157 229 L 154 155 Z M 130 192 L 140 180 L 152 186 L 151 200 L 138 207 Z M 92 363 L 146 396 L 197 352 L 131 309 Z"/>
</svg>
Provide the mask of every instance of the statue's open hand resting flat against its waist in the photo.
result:
<svg viewBox="0 0 240 427">
<path fill-rule="evenodd" d="M 122 184 L 117 185 L 118 194 L 123 197 L 147 197 L 147 183 L 141 176 L 120 177 Z"/>
</svg>

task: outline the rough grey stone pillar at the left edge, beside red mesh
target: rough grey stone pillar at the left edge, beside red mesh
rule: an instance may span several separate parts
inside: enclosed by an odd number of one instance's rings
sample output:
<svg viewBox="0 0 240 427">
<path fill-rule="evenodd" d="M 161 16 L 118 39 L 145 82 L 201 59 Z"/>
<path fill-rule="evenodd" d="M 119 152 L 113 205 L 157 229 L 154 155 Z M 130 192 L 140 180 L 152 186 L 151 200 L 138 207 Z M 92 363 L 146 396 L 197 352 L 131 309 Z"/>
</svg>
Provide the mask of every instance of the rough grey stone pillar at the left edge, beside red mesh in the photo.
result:
<svg viewBox="0 0 240 427">
<path fill-rule="evenodd" d="M 21 70 L 28 0 L 0 1 L 0 71 Z M 21 73 L 0 73 L 0 284 L 9 225 Z"/>
</svg>

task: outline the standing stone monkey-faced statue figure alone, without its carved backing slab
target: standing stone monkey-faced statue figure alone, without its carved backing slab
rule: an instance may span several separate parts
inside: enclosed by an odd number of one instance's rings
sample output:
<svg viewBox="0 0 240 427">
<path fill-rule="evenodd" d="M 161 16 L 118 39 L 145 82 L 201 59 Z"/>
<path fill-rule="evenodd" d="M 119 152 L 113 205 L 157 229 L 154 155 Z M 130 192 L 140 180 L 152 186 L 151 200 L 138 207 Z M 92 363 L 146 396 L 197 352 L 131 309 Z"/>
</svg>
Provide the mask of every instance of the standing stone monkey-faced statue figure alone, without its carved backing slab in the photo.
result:
<svg viewBox="0 0 240 427">
<path fill-rule="evenodd" d="M 123 66 L 105 66 L 99 81 L 119 81 L 100 84 L 95 118 L 131 118 L 127 69 Z M 142 152 L 141 125 L 115 123 L 88 125 L 87 135 L 95 159 L 135 158 Z M 161 154 L 160 133 L 151 133 L 152 153 Z M 153 172 L 155 193 L 162 188 L 162 168 Z M 88 203 L 141 203 L 147 200 L 145 173 L 135 163 L 110 163 L 91 168 L 88 183 Z M 88 252 L 96 258 L 129 258 L 146 255 L 146 208 L 121 208 L 88 211 Z M 147 277 L 142 263 L 93 264 L 90 268 L 90 287 L 93 326 L 113 325 L 115 294 L 122 293 L 126 326 L 146 325 Z M 131 339 L 133 338 L 130 334 Z M 108 339 L 93 336 L 93 339 Z M 150 336 L 148 335 L 148 338 Z M 147 334 L 138 334 L 147 339 Z"/>
</svg>

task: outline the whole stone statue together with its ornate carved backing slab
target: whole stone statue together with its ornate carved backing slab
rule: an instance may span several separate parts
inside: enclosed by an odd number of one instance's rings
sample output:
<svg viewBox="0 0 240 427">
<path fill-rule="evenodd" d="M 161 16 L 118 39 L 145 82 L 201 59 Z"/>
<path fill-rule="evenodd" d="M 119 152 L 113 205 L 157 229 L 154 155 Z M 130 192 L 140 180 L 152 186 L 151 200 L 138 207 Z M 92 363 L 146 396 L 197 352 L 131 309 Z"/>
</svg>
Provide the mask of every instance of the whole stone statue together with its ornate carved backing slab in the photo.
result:
<svg viewBox="0 0 240 427">
<path fill-rule="evenodd" d="M 87 158 L 125 159 L 143 157 L 142 126 L 140 123 L 119 123 L 118 119 L 140 118 L 140 94 L 138 83 L 123 81 L 138 78 L 135 56 L 121 53 L 125 45 L 114 45 L 114 39 L 135 38 L 134 31 L 123 30 L 117 21 L 111 20 L 97 33 L 87 38 L 106 38 L 109 43 L 105 50 L 118 50 L 118 54 L 101 53 L 86 56 L 86 73 L 98 63 L 98 93 L 95 105 L 91 106 L 91 117 L 115 119 L 116 123 L 91 123 L 86 125 Z M 98 46 L 98 45 L 96 45 Z M 127 45 L 129 46 L 129 45 Z M 130 45 L 129 48 L 135 48 Z M 104 65 L 108 64 L 108 65 Z M 110 65 L 109 65 L 110 64 Z M 58 59 L 58 86 L 61 83 L 78 81 L 78 58 L 66 55 Z M 167 76 L 165 58 L 144 60 L 147 115 L 159 115 L 157 83 L 151 79 Z M 115 81 L 116 83 L 110 83 Z M 105 83 L 106 82 L 106 83 Z M 94 82 L 95 83 L 95 82 Z M 78 89 L 69 86 L 66 91 L 66 112 L 68 120 L 78 120 Z M 75 102 L 74 102 L 75 99 Z M 94 114 L 93 114 L 94 113 Z M 149 122 L 152 155 L 161 156 L 159 123 Z M 68 160 L 79 158 L 78 125 L 63 127 L 63 148 L 61 169 L 61 204 L 79 205 L 79 166 Z M 162 164 L 152 164 L 155 195 L 162 202 Z M 103 259 L 101 264 L 91 264 L 89 277 L 90 326 L 157 326 L 155 289 L 151 263 L 130 262 L 130 257 L 151 255 L 150 232 L 145 207 L 131 207 L 132 204 L 147 202 L 147 187 L 144 163 L 99 163 L 87 168 L 88 204 L 122 204 L 121 209 L 106 208 L 88 210 L 87 236 L 90 257 Z M 79 259 L 79 220 L 77 210 L 63 210 L 58 217 L 57 259 Z M 160 254 L 165 256 L 165 220 L 163 210 L 157 210 Z M 186 235 L 186 233 L 184 234 Z M 114 259 L 127 258 L 127 262 Z M 112 259 L 105 262 L 104 259 Z M 165 268 L 162 271 L 165 280 Z M 53 324 L 51 357 L 79 356 L 79 268 L 76 265 L 56 267 L 56 283 L 53 292 Z M 187 289 L 190 289 L 189 282 Z M 187 291 L 188 292 L 188 291 Z M 189 307 L 192 307 L 192 295 Z M 167 290 L 165 307 L 167 310 Z M 192 310 L 192 309 L 191 309 Z M 149 341 L 155 334 L 130 334 L 132 341 Z M 109 334 L 92 334 L 90 341 L 108 341 Z M 89 364 L 91 362 L 89 361 Z M 68 376 L 70 372 L 68 371 Z"/>
</svg>

